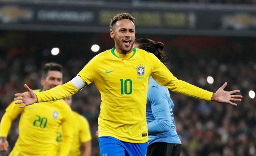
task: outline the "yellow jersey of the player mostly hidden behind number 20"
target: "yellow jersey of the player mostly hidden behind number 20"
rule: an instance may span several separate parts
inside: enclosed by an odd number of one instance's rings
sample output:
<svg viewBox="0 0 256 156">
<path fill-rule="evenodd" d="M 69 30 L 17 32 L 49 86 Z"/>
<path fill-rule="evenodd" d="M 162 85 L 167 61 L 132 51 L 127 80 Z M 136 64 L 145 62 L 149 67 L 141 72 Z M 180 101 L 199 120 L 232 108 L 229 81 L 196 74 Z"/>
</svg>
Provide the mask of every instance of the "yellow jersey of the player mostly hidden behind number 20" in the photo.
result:
<svg viewBox="0 0 256 156">
<path fill-rule="evenodd" d="M 87 119 L 75 111 L 72 112 L 74 117 L 74 137 L 71 143 L 70 152 L 68 156 L 80 156 L 81 143 L 87 142 L 92 139 L 89 122 Z M 57 143 L 62 143 L 62 131 L 58 132 Z"/>
</svg>

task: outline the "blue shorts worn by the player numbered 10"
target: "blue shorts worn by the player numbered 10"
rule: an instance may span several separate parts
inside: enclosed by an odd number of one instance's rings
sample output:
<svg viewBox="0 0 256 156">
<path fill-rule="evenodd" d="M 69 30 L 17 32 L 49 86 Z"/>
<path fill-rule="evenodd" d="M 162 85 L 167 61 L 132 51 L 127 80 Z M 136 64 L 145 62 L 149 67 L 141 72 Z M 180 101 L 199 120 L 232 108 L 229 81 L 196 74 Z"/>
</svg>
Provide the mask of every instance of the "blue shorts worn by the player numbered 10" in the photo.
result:
<svg viewBox="0 0 256 156">
<path fill-rule="evenodd" d="M 117 138 L 99 137 L 100 156 L 146 156 L 146 143 L 129 143 Z"/>
</svg>

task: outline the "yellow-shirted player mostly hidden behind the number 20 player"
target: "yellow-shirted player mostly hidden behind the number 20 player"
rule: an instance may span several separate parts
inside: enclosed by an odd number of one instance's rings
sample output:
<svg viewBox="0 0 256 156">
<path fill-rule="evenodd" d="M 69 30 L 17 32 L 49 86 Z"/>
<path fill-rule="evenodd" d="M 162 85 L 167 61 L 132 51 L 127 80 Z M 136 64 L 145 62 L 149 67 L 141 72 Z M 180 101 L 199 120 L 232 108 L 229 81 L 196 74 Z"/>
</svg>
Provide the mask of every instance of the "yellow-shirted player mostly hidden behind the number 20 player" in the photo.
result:
<svg viewBox="0 0 256 156">
<path fill-rule="evenodd" d="M 64 101 L 71 106 L 72 96 L 65 98 Z M 74 137 L 68 156 L 80 156 L 80 146 L 82 148 L 81 156 L 91 156 L 91 132 L 87 119 L 75 111 L 72 112 L 74 116 Z M 62 133 L 58 133 L 57 142 L 61 143 Z"/>
</svg>

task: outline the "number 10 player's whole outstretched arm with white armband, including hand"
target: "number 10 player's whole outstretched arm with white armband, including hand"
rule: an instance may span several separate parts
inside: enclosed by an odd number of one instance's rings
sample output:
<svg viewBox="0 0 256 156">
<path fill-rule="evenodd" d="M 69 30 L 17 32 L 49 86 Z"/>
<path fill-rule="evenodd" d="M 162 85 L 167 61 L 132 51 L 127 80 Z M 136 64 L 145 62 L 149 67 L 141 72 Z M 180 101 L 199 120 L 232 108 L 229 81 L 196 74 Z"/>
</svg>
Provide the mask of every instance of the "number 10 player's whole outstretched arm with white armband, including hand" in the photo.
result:
<svg viewBox="0 0 256 156">
<path fill-rule="evenodd" d="M 95 56 L 89 63 L 84 66 L 84 68 L 78 73 L 76 77 L 63 85 L 58 85 L 50 90 L 34 93 L 27 85 L 25 85 L 27 93 L 15 94 L 15 100 L 17 101 L 15 104 L 21 104 L 20 108 L 28 105 L 32 105 L 36 102 L 45 102 L 45 101 L 54 101 L 67 98 L 78 90 L 83 89 L 86 85 L 89 85 L 94 80 L 95 74 L 97 73 L 97 66 L 99 64 L 100 59 L 102 59 L 99 55 Z"/>
</svg>

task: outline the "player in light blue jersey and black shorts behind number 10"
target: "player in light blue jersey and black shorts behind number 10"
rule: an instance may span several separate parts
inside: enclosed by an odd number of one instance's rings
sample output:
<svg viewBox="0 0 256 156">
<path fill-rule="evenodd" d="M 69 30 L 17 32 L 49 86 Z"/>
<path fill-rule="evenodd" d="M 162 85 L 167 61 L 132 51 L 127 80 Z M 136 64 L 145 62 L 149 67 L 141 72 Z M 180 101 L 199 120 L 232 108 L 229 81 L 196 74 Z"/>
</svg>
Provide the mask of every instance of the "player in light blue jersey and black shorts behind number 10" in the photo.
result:
<svg viewBox="0 0 256 156">
<path fill-rule="evenodd" d="M 150 39 L 135 40 L 134 47 L 153 53 L 160 61 L 165 61 L 164 44 Z M 174 103 L 168 88 L 149 79 L 146 118 L 149 141 L 147 156 L 179 156 L 181 141 L 176 132 L 173 118 Z"/>
</svg>

